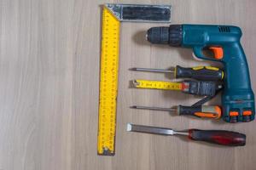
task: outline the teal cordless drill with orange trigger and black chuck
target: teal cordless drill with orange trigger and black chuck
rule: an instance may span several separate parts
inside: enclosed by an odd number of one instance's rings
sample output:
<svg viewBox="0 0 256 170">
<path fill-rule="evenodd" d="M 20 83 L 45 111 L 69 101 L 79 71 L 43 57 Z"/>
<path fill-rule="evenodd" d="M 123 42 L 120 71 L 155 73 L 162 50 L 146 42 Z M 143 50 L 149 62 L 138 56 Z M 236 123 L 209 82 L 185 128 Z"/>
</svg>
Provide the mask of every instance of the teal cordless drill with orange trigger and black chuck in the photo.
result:
<svg viewBox="0 0 256 170">
<path fill-rule="evenodd" d="M 255 116 L 254 94 L 240 38 L 241 29 L 237 26 L 171 25 L 152 27 L 147 32 L 149 42 L 192 48 L 199 59 L 223 63 L 222 117 L 225 122 L 250 122 Z M 214 57 L 203 53 L 206 48 L 212 50 Z"/>
</svg>

